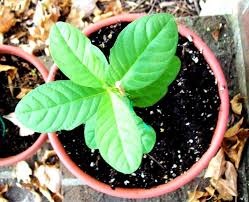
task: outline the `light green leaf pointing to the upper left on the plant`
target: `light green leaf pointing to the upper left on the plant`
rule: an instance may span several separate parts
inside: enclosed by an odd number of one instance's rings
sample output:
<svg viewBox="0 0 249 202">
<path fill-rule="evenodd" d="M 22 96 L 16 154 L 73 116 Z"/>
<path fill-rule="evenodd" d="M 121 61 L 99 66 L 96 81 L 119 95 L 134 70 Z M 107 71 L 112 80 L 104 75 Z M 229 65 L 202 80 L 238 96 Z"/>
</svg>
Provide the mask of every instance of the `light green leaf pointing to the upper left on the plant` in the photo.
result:
<svg viewBox="0 0 249 202">
<path fill-rule="evenodd" d="M 104 85 L 108 62 L 78 29 L 57 22 L 50 32 L 49 43 L 54 62 L 70 80 L 87 87 L 100 88 Z"/>
</svg>

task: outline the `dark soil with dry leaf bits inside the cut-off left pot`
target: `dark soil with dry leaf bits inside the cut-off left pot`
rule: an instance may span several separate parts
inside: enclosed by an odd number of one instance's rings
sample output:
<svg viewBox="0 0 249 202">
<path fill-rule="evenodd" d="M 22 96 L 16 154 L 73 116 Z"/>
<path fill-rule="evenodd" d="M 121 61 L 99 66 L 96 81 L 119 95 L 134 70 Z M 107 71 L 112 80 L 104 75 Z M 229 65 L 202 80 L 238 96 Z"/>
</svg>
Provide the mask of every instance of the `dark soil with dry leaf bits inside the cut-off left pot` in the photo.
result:
<svg viewBox="0 0 249 202">
<path fill-rule="evenodd" d="M 15 111 L 20 99 L 16 98 L 21 89 L 33 89 L 43 83 L 38 70 L 29 62 L 12 55 L 0 54 L 0 64 L 17 68 L 14 79 L 8 81 L 8 72 L 0 72 L 0 115 L 8 115 Z M 12 93 L 11 93 L 11 89 Z M 39 137 L 35 133 L 31 136 L 21 137 L 19 127 L 3 118 L 5 123 L 5 135 L 0 136 L 0 158 L 19 154 L 29 148 Z"/>
</svg>

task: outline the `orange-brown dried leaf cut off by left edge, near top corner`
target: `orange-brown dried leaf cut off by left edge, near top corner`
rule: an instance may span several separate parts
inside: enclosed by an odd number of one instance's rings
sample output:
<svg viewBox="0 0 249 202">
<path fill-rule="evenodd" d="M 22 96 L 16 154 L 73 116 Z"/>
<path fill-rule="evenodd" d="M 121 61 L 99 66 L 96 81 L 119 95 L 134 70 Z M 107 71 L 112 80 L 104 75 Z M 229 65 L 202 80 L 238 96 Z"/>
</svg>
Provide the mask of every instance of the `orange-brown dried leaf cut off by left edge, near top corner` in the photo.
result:
<svg viewBox="0 0 249 202">
<path fill-rule="evenodd" d="M 10 8 L 0 4 L 0 16 L 4 16 L 0 18 L 0 33 L 8 32 L 16 24 L 15 15 Z"/>
</svg>

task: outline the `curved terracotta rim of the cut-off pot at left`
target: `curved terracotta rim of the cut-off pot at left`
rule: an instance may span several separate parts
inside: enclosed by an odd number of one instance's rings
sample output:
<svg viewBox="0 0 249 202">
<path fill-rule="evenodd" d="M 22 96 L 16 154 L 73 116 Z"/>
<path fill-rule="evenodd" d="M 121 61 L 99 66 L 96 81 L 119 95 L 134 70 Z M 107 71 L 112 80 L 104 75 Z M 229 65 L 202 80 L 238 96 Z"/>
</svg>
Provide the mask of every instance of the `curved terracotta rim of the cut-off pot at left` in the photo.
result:
<svg viewBox="0 0 249 202">
<path fill-rule="evenodd" d="M 35 56 L 30 55 L 26 52 L 24 52 L 22 49 L 14 47 L 14 46 L 9 46 L 9 45 L 0 45 L 0 54 L 8 54 L 8 55 L 15 55 L 18 56 L 31 64 L 34 65 L 38 69 L 38 71 L 41 73 L 42 77 L 44 80 L 48 77 L 48 70 L 42 64 Z M 41 148 L 43 143 L 47 140 L 47 135 L 42 134 L 40 137 L 35 141 L 35 143 L 30 146 L 28 149 L 25 151 L 15 155 L 15 156 L 10 156 L 6 158 L 0 158 L 0 166 L 8 166 L 15 164 L 19 161 L 25 160 L 33 156 L 38 149 Z"/>
</svg>

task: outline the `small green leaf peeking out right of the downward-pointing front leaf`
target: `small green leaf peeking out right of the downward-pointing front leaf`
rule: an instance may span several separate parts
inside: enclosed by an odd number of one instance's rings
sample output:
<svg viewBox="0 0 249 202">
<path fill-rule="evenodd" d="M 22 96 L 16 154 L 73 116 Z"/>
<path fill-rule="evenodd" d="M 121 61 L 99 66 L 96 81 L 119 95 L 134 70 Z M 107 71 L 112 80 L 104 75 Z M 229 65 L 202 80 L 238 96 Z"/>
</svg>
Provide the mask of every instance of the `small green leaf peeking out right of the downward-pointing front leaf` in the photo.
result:
<svg viewBox="0 0 249 202">
<path fill-rule="evenodd" d="M 156 143 L 156 132 L 151 126 L 144 123 L 140 117 L 136 116 L 136 120 L 140 130 L 143 153 L 147 154 L 153 149 Z"/>
</svg>

